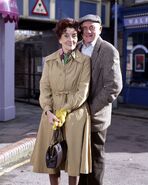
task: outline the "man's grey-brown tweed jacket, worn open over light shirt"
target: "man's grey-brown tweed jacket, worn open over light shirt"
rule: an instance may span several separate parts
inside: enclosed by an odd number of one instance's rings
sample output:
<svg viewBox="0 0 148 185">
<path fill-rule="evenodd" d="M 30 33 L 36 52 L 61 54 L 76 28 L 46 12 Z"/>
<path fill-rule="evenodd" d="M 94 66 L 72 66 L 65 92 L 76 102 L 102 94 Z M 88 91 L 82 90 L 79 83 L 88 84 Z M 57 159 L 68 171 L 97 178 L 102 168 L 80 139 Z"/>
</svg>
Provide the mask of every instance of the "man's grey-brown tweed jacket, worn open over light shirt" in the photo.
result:
<svg viewBox="0 0 148 185">
<path fill-rule="evenodd" d="M 97 132 L 110 125 L 112 102 L 122 89 L 119 53 L 101 37 L 98 38 L 92 53 L 91 73 L 88 102 L 92 131 Z"/>
</svg>

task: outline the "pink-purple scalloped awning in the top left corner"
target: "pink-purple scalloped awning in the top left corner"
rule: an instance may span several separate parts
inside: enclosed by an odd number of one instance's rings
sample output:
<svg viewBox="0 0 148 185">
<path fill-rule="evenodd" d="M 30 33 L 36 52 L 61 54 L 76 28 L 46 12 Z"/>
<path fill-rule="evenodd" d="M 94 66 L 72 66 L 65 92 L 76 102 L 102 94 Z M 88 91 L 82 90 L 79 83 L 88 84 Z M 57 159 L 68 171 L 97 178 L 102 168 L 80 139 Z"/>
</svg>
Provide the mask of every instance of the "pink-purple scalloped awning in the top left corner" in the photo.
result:
<svg viewBox="0 0 148 185">
<path fill-rule="evenodd" d="M 0 0 L 0 15 L 5 22 L 17 22 L 19 17 L 16 0 Z"/>
</svg>

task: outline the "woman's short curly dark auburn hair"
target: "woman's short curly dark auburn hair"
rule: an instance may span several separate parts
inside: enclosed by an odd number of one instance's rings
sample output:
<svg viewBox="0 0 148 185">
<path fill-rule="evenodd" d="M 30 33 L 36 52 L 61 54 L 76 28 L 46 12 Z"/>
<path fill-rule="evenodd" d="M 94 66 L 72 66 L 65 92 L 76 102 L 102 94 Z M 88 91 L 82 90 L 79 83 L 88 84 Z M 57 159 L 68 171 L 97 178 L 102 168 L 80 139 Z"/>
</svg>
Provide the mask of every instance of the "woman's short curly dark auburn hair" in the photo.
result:
<svg viewBox="0 0 148 185">
<path fill-rule="evenodd" d="M 61 38 L 62 34 L 66 30 L 66 28 L 74 28 L 76 32 L 79 32 L 79 23 L 78 21 L 72 18 L 62 19 L 57 22 L 56 27 L 54 28 L 54 32 L 56 33 L 58 39 Z"/>
</svg>

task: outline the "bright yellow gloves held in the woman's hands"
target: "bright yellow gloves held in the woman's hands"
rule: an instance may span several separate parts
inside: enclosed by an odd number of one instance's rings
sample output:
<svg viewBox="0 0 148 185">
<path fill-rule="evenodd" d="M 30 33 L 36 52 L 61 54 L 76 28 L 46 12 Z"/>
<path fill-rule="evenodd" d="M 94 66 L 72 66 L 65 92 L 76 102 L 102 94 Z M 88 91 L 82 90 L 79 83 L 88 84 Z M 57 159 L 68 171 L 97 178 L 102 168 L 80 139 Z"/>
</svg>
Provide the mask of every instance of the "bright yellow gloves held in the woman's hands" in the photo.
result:
<svg viewBox="0 0 148 185">
<path fill-rule="evenodd" d="M 67 115 L 67 110 L 65 109 L 60 109 L 56 111 L 56 117 L 60 120 L 59 122 L 55 121 L 53 124 L 53 130 L 56 130 L 57 127 L 62 127 L 63 124 L 65 123 L 66 120 L 66 115 Z"/>
</svg>

